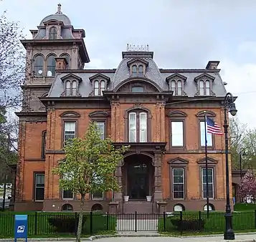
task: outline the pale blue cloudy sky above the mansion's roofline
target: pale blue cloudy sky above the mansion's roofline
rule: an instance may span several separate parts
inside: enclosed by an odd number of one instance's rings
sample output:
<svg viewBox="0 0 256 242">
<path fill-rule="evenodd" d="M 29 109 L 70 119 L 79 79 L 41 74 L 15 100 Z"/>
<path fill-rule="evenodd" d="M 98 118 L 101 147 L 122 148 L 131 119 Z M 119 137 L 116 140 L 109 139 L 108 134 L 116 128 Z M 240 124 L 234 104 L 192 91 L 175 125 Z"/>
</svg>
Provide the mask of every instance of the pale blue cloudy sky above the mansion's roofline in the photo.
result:
<svg viewBox="0 0 256 242">
<path fill-rule="evenodd" d="M 0 0 L 0 13 L 29 29 L 57 11 L 85 29 L 86 68 L 117 68 L 126 44 L 149 45 L 159 68 L 205 68 L 220 61 L 226 89 L 238 96 L 237 117 L 256 127 L 256 1 L 254 0 Z"/>
</svg>

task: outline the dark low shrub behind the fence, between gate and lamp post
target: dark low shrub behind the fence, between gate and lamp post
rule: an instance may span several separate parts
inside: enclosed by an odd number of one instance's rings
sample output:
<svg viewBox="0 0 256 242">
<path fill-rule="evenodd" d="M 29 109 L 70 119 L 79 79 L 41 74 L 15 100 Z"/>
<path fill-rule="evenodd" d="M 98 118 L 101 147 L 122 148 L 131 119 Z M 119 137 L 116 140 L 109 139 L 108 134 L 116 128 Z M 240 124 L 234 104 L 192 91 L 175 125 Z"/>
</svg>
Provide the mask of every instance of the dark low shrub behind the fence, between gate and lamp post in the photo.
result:
<svg viewBox="0 0 256 242">
<path fill-rule="evenodd" d="M 178 220 L 171 219 L 171 223 L 182 231 L 200 231 L 204 228 L 205 222 L 202 219 Z"/>
</svg>

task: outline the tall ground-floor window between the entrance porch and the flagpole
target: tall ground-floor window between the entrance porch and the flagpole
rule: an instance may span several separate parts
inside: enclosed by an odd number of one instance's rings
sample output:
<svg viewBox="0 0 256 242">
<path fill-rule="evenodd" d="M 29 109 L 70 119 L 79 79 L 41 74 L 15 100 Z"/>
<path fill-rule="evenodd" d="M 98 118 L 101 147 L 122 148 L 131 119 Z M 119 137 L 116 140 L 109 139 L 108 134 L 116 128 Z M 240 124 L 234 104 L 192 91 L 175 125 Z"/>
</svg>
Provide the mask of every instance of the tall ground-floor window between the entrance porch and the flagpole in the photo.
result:
<svg viewBox="0 0 256 242">
<path fill-rule="evenodd" d="M 184 168 L 172 169 L 173 198 L 184 199 Z"/>
</svg>

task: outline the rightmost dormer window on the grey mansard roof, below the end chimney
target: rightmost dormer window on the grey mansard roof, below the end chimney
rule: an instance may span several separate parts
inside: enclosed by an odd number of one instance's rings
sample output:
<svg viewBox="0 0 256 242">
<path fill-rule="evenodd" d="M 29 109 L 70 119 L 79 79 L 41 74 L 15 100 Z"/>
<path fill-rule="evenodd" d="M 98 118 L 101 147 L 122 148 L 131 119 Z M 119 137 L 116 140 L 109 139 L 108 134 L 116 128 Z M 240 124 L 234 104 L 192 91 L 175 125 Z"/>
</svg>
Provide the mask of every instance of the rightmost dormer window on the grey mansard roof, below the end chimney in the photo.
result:
<svg viewBox="0 0 256 242">
<path fill-rule="evenodd" d="M 209 74 L 201 74 L 199 77 L 194 79 L 197 85 L 196 96 L 214 96 L 214 92 L 212 92 L 212 84 L 214 81 L 214 77 Z"/>
</svg>

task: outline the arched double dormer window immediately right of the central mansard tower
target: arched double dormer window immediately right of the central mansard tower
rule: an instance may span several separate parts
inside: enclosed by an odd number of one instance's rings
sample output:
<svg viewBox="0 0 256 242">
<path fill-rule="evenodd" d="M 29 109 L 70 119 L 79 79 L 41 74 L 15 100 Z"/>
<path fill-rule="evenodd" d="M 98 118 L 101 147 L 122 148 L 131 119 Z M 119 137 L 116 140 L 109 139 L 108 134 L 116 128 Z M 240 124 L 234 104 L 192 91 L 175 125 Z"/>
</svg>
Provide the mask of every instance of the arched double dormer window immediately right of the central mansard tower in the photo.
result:
<svg viewBox="0 0 256 242">
<path fill-rule="evenodd" d="M 181 74 L 172 74 L 166 77 L 166 82 L 169 83 L 169 90 L 173 92 L 174 96 L 186 96 L 186 92 L 184 92 L 186 77 Z"/>
</svg>

